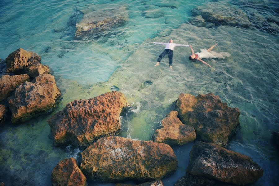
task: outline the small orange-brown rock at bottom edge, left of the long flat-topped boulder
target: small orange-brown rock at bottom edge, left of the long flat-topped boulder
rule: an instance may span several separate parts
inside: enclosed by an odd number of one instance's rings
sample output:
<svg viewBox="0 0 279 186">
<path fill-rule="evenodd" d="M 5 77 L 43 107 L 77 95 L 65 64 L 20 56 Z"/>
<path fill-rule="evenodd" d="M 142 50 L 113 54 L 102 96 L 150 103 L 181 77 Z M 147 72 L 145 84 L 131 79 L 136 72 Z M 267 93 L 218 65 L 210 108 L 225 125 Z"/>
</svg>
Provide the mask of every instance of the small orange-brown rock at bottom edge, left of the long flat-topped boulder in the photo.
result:
<svg viewBox="0 0 279 186">
<path fill-rule="evenodd" d="M 52 170 L 52 186 L 85 186 L 86 177 L 74 158 L 60 161 Z"/>
</svg>

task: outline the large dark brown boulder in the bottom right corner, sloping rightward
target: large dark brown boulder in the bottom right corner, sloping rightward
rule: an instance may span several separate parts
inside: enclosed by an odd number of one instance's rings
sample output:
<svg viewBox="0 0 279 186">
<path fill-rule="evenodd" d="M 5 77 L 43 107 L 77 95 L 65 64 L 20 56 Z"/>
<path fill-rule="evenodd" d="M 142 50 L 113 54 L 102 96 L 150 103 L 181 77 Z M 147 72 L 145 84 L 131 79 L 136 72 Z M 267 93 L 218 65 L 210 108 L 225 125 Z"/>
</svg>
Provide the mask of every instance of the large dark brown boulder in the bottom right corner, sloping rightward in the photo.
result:
<svg viewBox="0 0 279 186">
<path fill-rule="evenodd" d="M 190 152 L 187 172 L 236 185 L 252 184 L 263 175 L 263 169 L 250 157 L 201 141 Z"/>
</svg>

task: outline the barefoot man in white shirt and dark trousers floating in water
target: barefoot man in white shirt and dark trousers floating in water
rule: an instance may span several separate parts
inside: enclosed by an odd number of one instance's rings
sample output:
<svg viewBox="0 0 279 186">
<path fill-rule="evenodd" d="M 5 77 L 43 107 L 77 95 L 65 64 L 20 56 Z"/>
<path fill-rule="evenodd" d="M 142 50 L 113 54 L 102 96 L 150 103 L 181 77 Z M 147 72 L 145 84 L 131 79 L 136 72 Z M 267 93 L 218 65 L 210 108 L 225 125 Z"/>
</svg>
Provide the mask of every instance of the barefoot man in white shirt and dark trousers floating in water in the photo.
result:
<svg viewBox="0 0 279 186">
<path fill-rule="evenodd" d="M 157 45 L 165 45 L 165 50 L 162 52 L 162 54 L 159 55 L 158 59 L 157 59 L 157 64 L 155 64 L 154 66 L 158 66 L 159 63 L 161 62 L 162 58 L 165 56 L 165 55 L 168 55 L 169 57 L 169 66 L 170 66 L 170 69 L 172 70 L 172 57 L 173 57 L 173 49 L 175 47 L 190 47 L 190 45 L 181 45 L 181 44 L 176 44 L 176 43 L 173 43 L 173 40 L 170 39 L 170 41 L 168 43 L 161 43 L 161 42 L 153 42 L 154 44 L 157 44 Z"/>
</svg>

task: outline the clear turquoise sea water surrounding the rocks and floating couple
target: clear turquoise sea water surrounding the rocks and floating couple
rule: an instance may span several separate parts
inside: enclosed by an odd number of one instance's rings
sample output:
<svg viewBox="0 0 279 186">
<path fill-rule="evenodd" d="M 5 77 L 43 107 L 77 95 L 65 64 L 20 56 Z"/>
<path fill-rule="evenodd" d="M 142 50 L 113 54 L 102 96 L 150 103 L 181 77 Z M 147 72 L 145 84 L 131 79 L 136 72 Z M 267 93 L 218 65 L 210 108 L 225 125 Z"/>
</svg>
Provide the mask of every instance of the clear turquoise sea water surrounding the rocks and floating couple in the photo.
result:
<svg viewBox="0 0 279 186">
<path fill-rule="evenodd" d="M 240 129 L 228 149 L 253 158 L 264 169 L 255 185 L 277 185 L 278 151 L 271 145 L 279 130 L 279 37 L 270 28 L 214 28 L 189 24 L 198 6 L 232 8 L 253 15 L 278 16 L 278 1 L 20 1 L 0 2 L 0 58 L 19 47 L 34 51 L 53 70 L 62 100 L 56 110 L 20 125 L 7 123 L 0 131 L 0 181 L 6 185 L 51 185 L 51 170 L 82 149 L 55 147 L 46 120 L 74 99 L 88 99 L 119 87 L 133 108 L 122 119 L 123 137 L 149 140 L 181 92 L 213 92 L 241 110 Z M 125 7 L 128 22 L 99 38 L 76 40 L 75 24 L 86 13 Z M 237 15 L 236 15 L 237 16 Z M 250 16 L 250 19 L 253 19 Z M 263 24 L 262 24 L 263 25 Z M 273 28 L 276 26 L 274 25 Z M 191 44 L 195 51 L 215 42 L 226 59 L 206 59 L 212 68 L 188 60 L 189 48 L 174 50 L 174 71 L 165 57 L 153 67 L 163 46 L 150 42 Z M 144 86 L 145 81 L 152 81 Z M 163 179 L 172 185 L 185 174 L 193 143 L 174 147 L 179 169 Z M 89 180 L 89 185 L 95 185 Z M 98 184 L 104 185 L 104 184 Z"/>
</svg>

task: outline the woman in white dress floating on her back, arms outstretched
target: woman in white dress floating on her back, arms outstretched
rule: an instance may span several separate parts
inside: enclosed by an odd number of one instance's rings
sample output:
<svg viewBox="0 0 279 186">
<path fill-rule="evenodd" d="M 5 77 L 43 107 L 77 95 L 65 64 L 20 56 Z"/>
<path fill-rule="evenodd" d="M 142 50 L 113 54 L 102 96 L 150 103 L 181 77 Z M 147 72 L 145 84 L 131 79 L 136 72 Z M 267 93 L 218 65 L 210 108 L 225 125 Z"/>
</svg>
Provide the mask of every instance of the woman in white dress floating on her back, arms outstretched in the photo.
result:
<svg viewBox="0 0 279 186">
<path fill-rule="evenodd" d="M 210 47 L 209 49 L 201 49 L 201 52 L 194 53 L 194 50 L 192 46 L 190 45 L 192 55 L 189 56 L 189 60 L 199 60 L 202 63 L 206 64 L 207 66 L 211 67 L 209 64 L 207 64 L 205 61 L 201 60 L 202 58 L 221 58 L 224 59 L 225 57 L 229 57 L 230 54 L 228 52 L 214 52 L 211 51 L 218 43 Z"/>
</svg>

